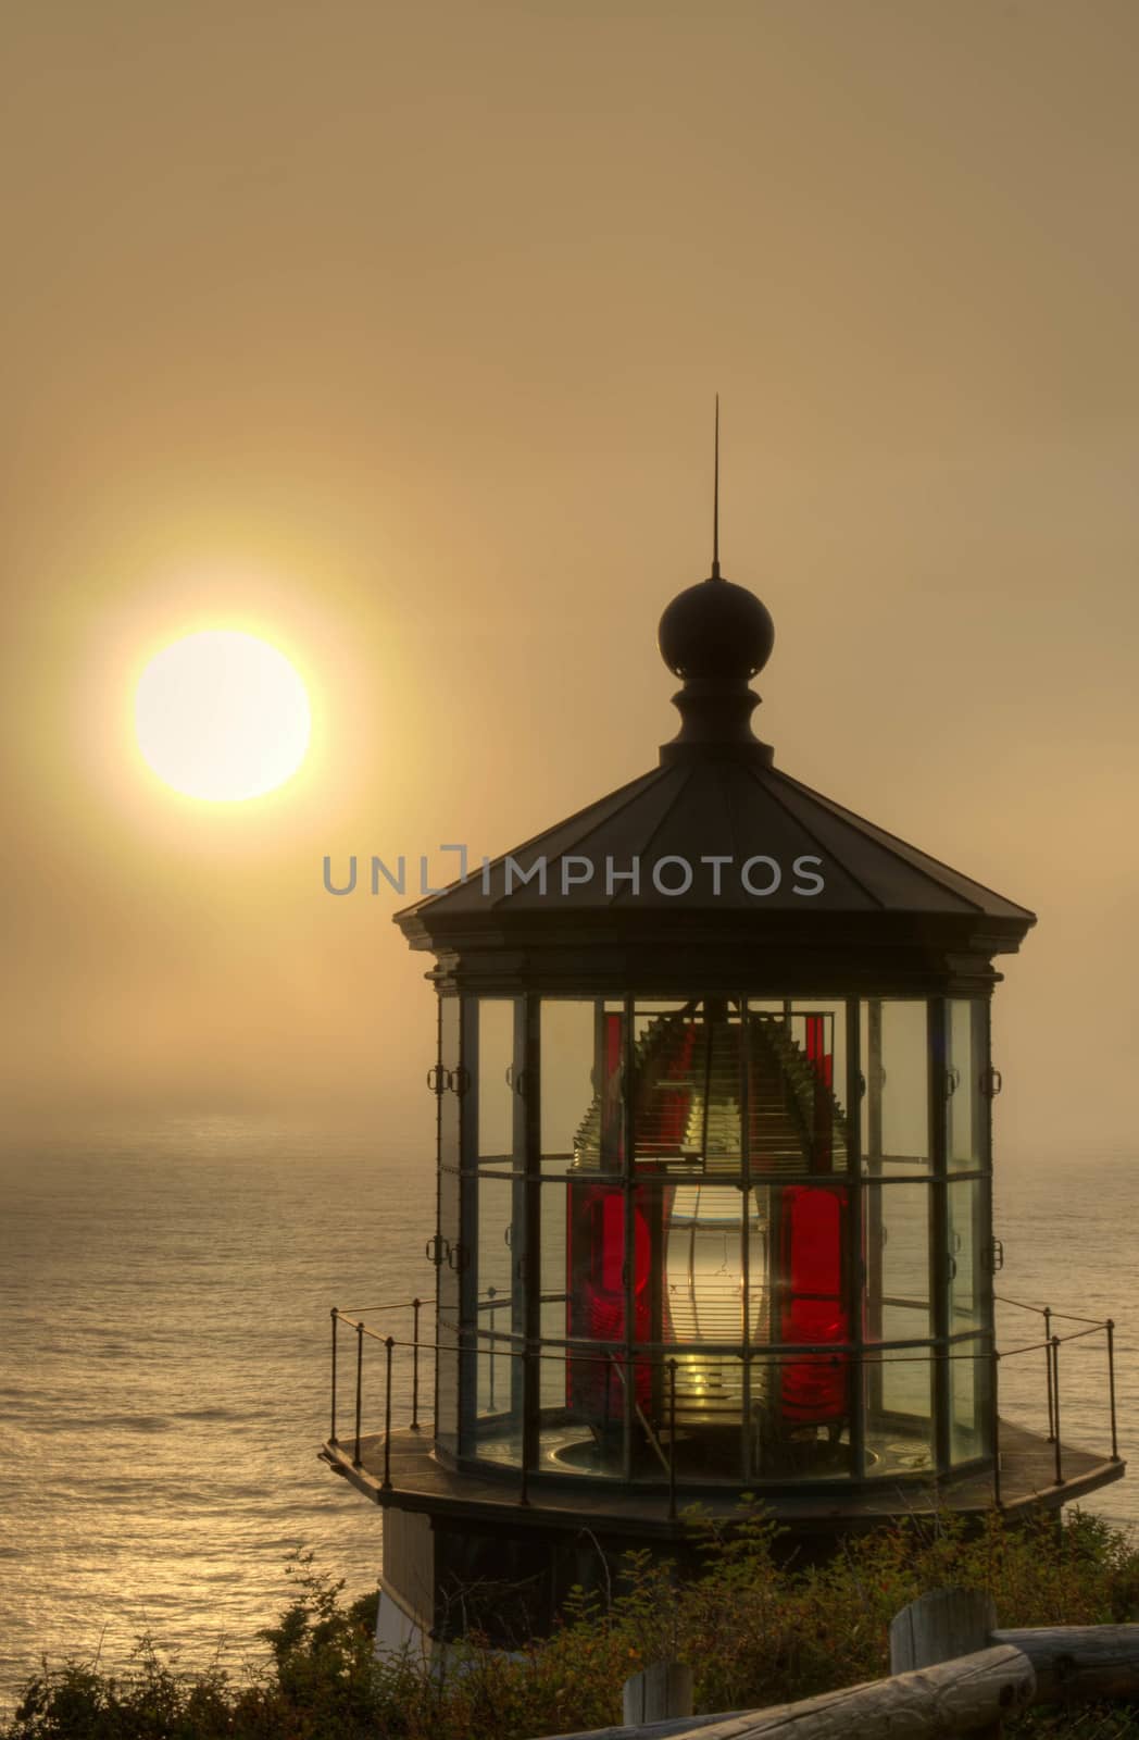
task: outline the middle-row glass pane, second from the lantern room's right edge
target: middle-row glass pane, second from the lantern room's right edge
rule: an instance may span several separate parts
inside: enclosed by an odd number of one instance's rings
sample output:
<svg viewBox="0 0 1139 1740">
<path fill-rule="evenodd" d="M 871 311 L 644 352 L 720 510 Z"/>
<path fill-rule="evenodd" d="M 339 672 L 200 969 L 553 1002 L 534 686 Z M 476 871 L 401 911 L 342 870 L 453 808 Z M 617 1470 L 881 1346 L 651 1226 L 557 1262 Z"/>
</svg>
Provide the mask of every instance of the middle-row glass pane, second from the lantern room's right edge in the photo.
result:
<svg viewBox="0 0 1139 1740">
<path fill-rule="evenodd" d="M 869 1183 L 864 1213 L 866 1340 L 925 1340 L 930 1335 L 930 1188 Z"/>
</svg>

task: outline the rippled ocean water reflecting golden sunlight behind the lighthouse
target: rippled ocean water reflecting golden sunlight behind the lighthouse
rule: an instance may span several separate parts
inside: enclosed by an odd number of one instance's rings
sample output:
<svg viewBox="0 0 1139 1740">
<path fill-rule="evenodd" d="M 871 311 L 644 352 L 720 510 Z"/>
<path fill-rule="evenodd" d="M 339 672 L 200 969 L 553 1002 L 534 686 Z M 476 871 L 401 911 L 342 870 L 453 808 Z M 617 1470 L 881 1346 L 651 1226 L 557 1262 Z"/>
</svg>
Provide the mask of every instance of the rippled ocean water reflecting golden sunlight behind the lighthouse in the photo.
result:
<svg viewBox="0 0 1139 1740">
<path fill-rule="evenodd" d="M 316 1460 L 329 1308 L 435 1291 L 433 1155 L 184 1117 L 9 1147 L 0 1204 L 0 1702 L 42 1651 L 110 1667 L 151 1636 L 183 1667 L 263 1660 L 297 1549 L 348 1594 L 374 1587 L 379 1512 Z M 1127 1152 L 998 1161 L 998 1291 L 1116 1317 L 1123 1456 L 1137 1223 Z M 1035 1340 L 1002 1307 L 1002 1343 Z M 1062 1436 L 1106 1449 L 1102 1336 L 1061 1359 Z M 1042 1427 L 1043 1395 L 1043 1354 L 1002 1364 L 1003 1415 Z M 1087 1509 L 1139 1522 L 1139 1470 Z"/>
</svg>

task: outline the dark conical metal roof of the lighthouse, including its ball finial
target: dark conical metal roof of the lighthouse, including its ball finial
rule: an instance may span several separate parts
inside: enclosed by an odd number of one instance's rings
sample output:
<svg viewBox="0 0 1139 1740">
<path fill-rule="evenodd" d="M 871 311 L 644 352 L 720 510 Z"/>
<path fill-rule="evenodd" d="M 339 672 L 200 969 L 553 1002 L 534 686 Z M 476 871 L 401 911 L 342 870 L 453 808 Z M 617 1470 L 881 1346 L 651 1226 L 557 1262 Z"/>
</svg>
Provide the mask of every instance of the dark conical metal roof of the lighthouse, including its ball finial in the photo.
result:
<svg viewBox="0 0 1139 1740">
<path fill-rule="evenodd" d="M 758 600 L 741 609 L 741 593 L 716 576 L 664 612 L 666 661 L 687 675 L 675 696 L 683 726 L 661 764 L 396 914 L 414 947 L 602 948 L 612 971 L 612 945 L 628 941 L 643 971 L 645 948 L 683 954 L 715 940 L 751 967 L 779 955 L 784 976 L 814 955 L 816 980 L 828 952 L 842 955 L 843 978 L 859 952 L 869 971 L 883 947 L 894 966 L 909 952 L 943 971 L 965 954 L 976 974 L 981 957 L 1017 947 L 1035 922 L 1028 908 L 774 766 L 751 733 L 748 687 L 774 633 Z M 737 656 L 701 663 L 713 637 L 727 646 L 729 618 L 741 623 Z"/>
</svg>

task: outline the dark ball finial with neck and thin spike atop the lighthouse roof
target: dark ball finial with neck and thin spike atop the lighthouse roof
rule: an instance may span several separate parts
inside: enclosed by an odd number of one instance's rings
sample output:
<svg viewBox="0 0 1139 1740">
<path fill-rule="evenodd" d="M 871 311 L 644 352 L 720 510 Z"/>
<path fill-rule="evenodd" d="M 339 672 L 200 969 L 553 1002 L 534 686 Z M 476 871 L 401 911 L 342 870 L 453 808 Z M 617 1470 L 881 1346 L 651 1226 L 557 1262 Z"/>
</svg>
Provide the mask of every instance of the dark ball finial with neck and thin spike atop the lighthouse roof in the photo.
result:
<svg viewBox="0 0 1139 1740">
<path fill-rule="evenodd" d="M 776 625 L 767 606 L 753 592 L 732 585 L 720 574 L 718 393 L 711 524 L 711 574 L 673 599 L 661 618 L 657 646 L 673 675 L 683 677 L 685 682 L 675 696 L 683 719 L 676 745 L 734 741 L 748 743 L 755 750 L 758 745 L 748 720 L 756 706 L 756 696 L 748 689 L 748 682 L 770 658 Z"/>
</svg>

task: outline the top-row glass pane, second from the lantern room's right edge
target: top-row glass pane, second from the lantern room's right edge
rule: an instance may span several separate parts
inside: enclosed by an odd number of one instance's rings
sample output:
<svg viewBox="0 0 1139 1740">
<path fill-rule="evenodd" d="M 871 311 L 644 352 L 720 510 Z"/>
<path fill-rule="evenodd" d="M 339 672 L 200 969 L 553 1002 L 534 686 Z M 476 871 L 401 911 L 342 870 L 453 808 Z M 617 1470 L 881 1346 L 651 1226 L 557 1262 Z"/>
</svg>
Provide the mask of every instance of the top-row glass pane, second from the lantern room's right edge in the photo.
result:
<svg viewBox="0 0 1139 1740">
<path fill-rule="evenodd" d="M 930 1168 L 927 1025 L 923 999 L 871 997 L 859 1009 L 863 1166 L 869 1173 Z"/>
</svg>

